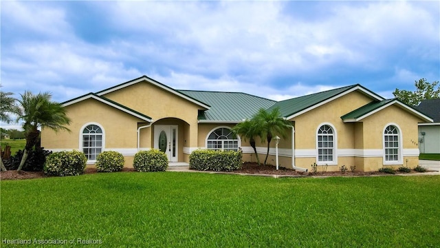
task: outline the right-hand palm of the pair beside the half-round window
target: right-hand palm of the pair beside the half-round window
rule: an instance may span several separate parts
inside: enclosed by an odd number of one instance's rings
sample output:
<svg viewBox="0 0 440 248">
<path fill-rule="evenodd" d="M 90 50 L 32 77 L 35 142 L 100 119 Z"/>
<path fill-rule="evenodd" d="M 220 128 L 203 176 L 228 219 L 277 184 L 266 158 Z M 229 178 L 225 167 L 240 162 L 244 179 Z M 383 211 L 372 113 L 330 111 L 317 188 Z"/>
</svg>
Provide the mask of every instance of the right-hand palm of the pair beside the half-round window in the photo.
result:
<svg viewBox="0 0 440 248">
<path fill-rule="evenodd" d="M 254 118 L 255 121 L 261 125 L 263 136 L 265 136 L 267 140 L 267 153 L 264 160 L 264 165 L 266 165 L 267 157 L 269 156 L 270 141 L 272 141 L 272 138 L 276 134 L 286 138 L 287 129 L 292 127 L 292 123 L 281 116 L 281 111 L 278 107 L 274 108 L 271 112 L 267 112 L 267 110 L 262 108 Z"/>
</svg>

